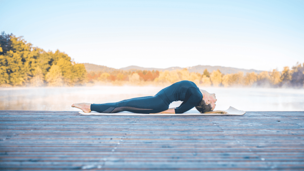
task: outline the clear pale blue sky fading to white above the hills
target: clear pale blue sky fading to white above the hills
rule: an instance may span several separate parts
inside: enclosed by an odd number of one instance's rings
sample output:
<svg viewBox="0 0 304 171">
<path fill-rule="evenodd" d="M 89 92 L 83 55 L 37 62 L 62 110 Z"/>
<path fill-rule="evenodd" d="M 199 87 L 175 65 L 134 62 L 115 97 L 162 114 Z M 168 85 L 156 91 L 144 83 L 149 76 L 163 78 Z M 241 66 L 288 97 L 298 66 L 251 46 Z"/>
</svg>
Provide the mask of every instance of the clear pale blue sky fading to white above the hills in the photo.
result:
<svg viewBox="0 0 304 171">
<path fill-rule="evenodd" d="M 304 62 L 304 0 L 0 0 L 0 31 L 117 69 Z"/>
</svg>

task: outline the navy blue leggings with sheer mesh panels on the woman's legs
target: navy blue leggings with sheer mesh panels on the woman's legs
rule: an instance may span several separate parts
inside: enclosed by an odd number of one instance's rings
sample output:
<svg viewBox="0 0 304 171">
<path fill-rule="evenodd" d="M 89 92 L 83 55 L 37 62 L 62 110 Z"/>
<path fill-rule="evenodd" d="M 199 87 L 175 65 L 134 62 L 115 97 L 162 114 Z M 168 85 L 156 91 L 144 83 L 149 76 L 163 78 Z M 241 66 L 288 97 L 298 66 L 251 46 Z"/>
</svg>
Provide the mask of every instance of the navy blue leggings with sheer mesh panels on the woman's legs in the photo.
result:
<svg viewBox="0 0 304 171">
<path fill-rule="evenodd" d="M 159 95 L 137 97 L 123 100 L 117 103 L 91 104 L 91 110 L 99 113 L 159 113 L 169 109 L 169 104 L 165 103 Z"/>
</svg>

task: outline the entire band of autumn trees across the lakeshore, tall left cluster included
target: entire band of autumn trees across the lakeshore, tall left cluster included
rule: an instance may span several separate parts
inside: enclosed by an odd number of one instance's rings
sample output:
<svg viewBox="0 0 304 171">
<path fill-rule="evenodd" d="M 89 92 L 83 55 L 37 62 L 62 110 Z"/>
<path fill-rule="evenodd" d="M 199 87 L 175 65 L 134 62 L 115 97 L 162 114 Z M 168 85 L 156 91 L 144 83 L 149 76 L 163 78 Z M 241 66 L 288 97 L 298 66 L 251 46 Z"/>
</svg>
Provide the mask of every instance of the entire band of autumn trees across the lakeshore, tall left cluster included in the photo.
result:
<svg viewBox="0 0 304 171">
<path fill-rule="evenodd" d="M 219 70 L 203 73 L 186 68 L 173 71 L 99 71 L 87 72 L 84 64 L 75 63 L 59 50 L 44 51 L 13 34 L 0 35 L 0 87 L 12 86 L 75 86 L 75 85 L 170 85 L 189 80 L 200 86 L 222 87 L 295 87 L 303 88 L 304 63 L 283 71 L 259 74 L 222 74 Z"/>
</svg>

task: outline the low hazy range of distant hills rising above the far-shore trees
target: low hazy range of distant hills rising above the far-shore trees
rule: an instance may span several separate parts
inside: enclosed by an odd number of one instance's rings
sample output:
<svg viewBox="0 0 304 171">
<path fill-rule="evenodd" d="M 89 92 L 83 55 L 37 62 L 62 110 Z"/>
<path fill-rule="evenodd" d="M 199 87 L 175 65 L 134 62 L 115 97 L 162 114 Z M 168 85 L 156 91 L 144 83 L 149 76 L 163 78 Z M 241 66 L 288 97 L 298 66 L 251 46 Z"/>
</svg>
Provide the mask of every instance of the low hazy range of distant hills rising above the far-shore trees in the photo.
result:
<svg viewBox="0 0 304 171">
<path fill-rule="evenodd" d="M 128 66 L 125 68 L 120 68 L 120 69 L 115 69 L 115 68 L 109 68 L 106 66 L 101 66 L 101 65 L 95 65 L 95 64 L 88 64 L 88 63 L 84 63 L 85 65 L 85 69 L 87 70 L 87 72 L 113 72 L 113 71 L 118 71 L 118 70 L 124 70 L 124 71 L 136 71 L 136 70 L 148 70 L 148 71 L 152 71 L 152 70 L 158 70 L 158 71 L 172 71 L 172 70 L 176 70 L 176 69 L 183 69 L 181 67 L 170 67 L 170 68 L 144 68 L 144 67 L 139 67 L 139 66 Z M 197 66 L 193 66 L 193 67 L 186 67 L 188 69 L 189 72 L 199 72 L 199 73 L 203 73 L 205 69 L 207 69 L 209 72 L 212 72 L 214 70 L 219 69 L 220 72 L 222 72 L 223 74 L 234 74 L 234 73 L 238 73 L 238 72 L 243 72 L 244 74 L 247 72 L 255 72 L 257 74 L 259 74 L 262 71 L 259 70 L 254 70 L 254 69 L 240 69 L 240 68 L 231 68 L 231 67 L 222 67 L 222 66 L 210 66 L 210 65 L 197 65 Z"/>
</svg>

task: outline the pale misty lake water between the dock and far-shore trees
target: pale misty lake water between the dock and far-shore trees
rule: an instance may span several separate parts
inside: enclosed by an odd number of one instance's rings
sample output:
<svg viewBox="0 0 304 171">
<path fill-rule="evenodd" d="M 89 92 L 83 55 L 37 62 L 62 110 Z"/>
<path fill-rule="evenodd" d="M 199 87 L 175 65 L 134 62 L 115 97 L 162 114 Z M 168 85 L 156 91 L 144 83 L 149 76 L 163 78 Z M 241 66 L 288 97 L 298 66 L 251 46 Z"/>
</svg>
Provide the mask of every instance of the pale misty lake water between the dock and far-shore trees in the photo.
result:
<svg viewBox="0 0 304 171">
<path fill-rule="evenodd" d="M 0 110 L 79 111 L 72 103 L 111 103 L 141 96 L 154 96 L 164 87 L 93 86 L 61 88 L 1 88 Z M 304 89 L 200 87 L 216 93 L 215 110 L 233 106 L 245 111 L 304 111 Z M 170 107 L 181 102 L 171 103 Z M 193 108 L 192 110 L 195 110 Z"/>
</svg>

